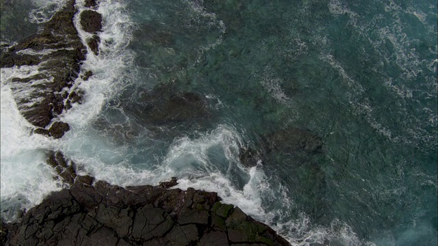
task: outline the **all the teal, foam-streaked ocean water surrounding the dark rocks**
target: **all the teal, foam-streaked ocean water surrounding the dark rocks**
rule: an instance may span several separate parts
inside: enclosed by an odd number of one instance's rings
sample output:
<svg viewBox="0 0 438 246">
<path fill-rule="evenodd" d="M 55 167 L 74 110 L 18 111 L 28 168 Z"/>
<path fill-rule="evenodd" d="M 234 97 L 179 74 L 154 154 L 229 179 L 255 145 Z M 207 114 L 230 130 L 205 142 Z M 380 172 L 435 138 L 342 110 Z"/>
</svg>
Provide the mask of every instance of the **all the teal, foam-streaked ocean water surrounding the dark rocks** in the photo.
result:
<svg viewBox="0 0 438 246">
<path fill-rule="evenodd" d="M 2 46 L 63 4 L 2 1 Z M 436 1 L 101 0 L 97 11 L 101 52 L 76 81 L 83 104 L 59 115 L 62 139 L 31 135 L 10 90 L 38 66 L 1 68 L 4 219 L 65 186 L 45 164 L 62 150 L 112 184 L 176 176 L 216 191 L 292 245 L 437 245 Z M 209 118 L 151 125 L 142 100 L 158 85 L 201 95 Z M 321 153 L 241 163 L 287 128 L 318 135 Z"/>
</svg>

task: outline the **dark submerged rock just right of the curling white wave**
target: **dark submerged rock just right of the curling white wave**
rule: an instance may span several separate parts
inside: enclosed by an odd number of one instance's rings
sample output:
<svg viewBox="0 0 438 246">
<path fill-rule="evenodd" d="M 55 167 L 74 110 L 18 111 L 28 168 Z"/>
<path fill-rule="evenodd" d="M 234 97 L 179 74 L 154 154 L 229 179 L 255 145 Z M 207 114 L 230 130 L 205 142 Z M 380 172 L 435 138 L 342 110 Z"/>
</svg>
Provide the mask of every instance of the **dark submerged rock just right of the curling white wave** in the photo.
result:
<svg viewBox="0 0 438 246">
<path fill-rule="evenodd" d="M 330 204 L 325 199 L 326 175 L 323 142 L 318 135 L 299 128 L 284 128 L 262 136 L 255 146 L 240 148 L 240 161 L 246 167 L 254 167 L 258 161 L 268 166 L 268 175 L 276 175 L 285 181 L 292 199 L 301 204 L 312 219 L 324 221 Z"/>
</svg>

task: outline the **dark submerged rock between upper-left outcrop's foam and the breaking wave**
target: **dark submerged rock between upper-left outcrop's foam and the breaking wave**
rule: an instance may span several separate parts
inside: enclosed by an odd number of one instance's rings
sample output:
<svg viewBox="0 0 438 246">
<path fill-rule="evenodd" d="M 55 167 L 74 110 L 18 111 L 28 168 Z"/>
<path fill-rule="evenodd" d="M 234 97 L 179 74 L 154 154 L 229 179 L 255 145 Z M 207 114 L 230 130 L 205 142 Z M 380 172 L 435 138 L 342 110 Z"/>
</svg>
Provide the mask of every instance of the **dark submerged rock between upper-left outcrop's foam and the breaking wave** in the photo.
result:
<svg viewBox="0 0 438 246">
<path fill-rule="evenodd" d="M 172 141 L 184 133 L 208 130 L 214 118 L 205 96 L 181 92 L 168 84 L 151 90 L 129 88 L 103 111 L 94 127 L 114 141 L 131 141 L 145 134 L 150 139 Z"/>
</svg>

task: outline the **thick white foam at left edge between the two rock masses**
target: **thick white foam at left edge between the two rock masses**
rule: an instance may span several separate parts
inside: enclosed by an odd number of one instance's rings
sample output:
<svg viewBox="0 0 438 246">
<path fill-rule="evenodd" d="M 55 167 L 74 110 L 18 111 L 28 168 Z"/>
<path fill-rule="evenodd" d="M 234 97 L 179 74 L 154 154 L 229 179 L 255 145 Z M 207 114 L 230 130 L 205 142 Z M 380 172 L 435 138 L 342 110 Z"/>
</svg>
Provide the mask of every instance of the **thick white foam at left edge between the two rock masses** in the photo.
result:
<svg viewBox="0 0 438 246">
<path fill-rule="evenodd" d="M 1 69 L 2 80 L 3 74 L 11 70 Z M 14 219 L 14 207 L 29 209 L 61 187 L 59 181 L 53 180 L 53 170 L 45 164 L 44 149 L 50 149 L 53 141 L 31 135 L 31 128 L 18 111 L 9 84 L 2 81 L 1 207 L 5 219 Z"/>
</svg>

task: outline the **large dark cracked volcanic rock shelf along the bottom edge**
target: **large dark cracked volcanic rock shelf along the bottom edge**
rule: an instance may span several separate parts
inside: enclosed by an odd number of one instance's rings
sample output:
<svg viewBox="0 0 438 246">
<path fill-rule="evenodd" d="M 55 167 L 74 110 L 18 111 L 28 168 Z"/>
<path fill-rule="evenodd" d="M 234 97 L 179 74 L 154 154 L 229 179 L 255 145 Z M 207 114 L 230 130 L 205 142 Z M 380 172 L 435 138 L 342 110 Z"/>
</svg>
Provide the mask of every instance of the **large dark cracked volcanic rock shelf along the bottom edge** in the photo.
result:
<svg viewBox="0 0 438 246">
<path fill-rule="evenodd" d="M 61 152 L 48 154 L 70 189 L 51 193 L 21 221 L 2 223 L 3 245 L 289 245 L 216 193 L 168 189 L 175 179 L 155 187 L 93 184 Z"/>
</svg>

